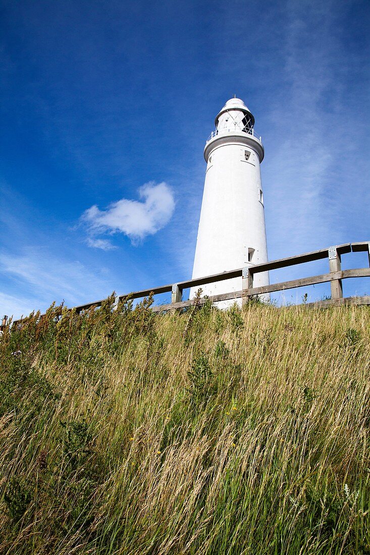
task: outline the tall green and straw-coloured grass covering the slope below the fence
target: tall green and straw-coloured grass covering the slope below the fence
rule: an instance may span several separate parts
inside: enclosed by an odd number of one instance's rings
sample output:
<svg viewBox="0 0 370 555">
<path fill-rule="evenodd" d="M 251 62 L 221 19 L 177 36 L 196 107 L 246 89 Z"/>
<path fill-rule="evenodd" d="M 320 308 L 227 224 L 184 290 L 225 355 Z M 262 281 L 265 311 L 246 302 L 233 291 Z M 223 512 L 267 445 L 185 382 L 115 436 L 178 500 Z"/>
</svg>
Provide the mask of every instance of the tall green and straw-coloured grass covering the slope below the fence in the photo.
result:
<svg viewBox="0 0 370 555">
<path fill-rule="evenodd" d="M 0 553 L 370 553 L 370 311 L 52 306 L 0 339 Z"/>
</svg>

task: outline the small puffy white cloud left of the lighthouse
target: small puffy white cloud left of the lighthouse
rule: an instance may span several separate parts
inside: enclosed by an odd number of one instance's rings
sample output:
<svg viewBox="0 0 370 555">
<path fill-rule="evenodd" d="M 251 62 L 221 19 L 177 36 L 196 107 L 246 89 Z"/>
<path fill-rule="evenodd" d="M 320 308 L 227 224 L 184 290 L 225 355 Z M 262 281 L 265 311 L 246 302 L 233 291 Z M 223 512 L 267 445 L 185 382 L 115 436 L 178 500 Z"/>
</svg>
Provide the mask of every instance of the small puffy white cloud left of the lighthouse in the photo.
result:
<svg viewBox="0 0 370 555">
<path fill-rule="evenodd" d="M 164 181 L 144 184 L 139 188 L 139 198 L 141 200 L 118 200 L 106 210 L 99 210 L 96 205 L 86 210 L 82 221 L 88 226 L 89 246 L 105 250 L 112 248 L 109 241 L 95 239 L 102 233 L 123 233 L 137 243 L 168 224 L 175 203 L 172 190 Z"/>
</svg>

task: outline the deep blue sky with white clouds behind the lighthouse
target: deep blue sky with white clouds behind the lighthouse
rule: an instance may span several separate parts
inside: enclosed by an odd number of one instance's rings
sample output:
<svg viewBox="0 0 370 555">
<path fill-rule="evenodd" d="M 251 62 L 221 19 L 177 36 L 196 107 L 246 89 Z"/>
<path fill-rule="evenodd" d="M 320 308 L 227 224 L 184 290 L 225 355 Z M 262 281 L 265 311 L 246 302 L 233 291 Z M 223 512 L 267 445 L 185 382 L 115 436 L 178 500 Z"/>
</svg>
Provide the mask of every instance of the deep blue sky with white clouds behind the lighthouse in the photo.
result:
<svg viewBox="0 0 370 555">
<path fill-rule="evenodd" d="M 189 278 L 204 143 L 234 94 L 266 150 L 269 258 L 370 239 L 367 1 L 12 0 L 0 12 L 0 312 Z M 271 280 L 316 270 L 326 263 Z"/>
</svg>

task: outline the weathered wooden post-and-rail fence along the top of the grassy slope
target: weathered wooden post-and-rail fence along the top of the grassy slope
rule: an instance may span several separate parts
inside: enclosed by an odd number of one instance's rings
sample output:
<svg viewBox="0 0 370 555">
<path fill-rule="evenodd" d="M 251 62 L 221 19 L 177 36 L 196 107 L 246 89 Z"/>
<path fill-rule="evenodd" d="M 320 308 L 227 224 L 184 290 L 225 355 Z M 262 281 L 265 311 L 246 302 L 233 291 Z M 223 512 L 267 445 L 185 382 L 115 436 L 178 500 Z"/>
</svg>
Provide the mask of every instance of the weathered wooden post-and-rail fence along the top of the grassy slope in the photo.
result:
<svg viewBox="0 0 370 555">
<path fill-rule="evenodd" d="M 365 252 L 368 254 L 369 268 L 357 268 L 352 270 L 341 269 L 341 255 L 345 253 Z M 277 284 L 264 285 L 262 287 L 253 287 L 253 276 L 259 272 L 266 272 L 269 270 L 277 270 L 279 268 L 288 268 L 297 264 L 312 262 L 315 260 L 322 260 L 327 258 L 329 261 L 329 272 L 317 276 L 310 276 L 308 278 L 301 278 L 291 281 L 282 281 Z M 232 291 L 229 293 L 222 293 L 209 297 L 203 297 L 200 302 L 206 302 L 207 298 L 212 302 L 242 299 L 242 304 L 248 301 L 249 297 L 254 295 L 261 295 L 264 293 L 271 293 L 273 291 L 286 291 L 287 289 L 294 289 L 295 287 L 303 287 L 306 285 L 315 285 L 318 283 L 330 282 L 331 285 L 331 300 L 319 301 L 316 303 L 309 303 L 319 306 L 341 305 L 341 304 L 368 304 L 370 305 L 370 296 L 363 297 L 349 297 L 343 298 L 342 280 L 348 278 L 365 278 L 370 277 L 370 241 L 362 243 L 344 243 L 343 245 L 334 245 L 327 249 L 314 250 L 311 253 L 298 254 L 296 256 L 289 256 L 288 258 L 281 258 L 279 260 L 271 260 L 263 264 L 256 264 L 246 266 L 245 268 L 238 268 L 237 270 L 225 271 L 220 274 L 205 276 L 204 278 L 190 279 L 186 281 L 179 281 L 175 284 L 162 285 L 160 287 L 151 287 L 150 289 L 143 289 L 141 291 L 134 291 L 126 295 L 119 295 L 116 299 L 116 305 L 125 299 L 141 299 L 150 294 L 159 295 L 161 293 L 171 292 L 171 303 L 159 306 L 153 306 L 154 312 L 162 312 L 164 310 L 181 309 L 186 306 L 193 305 L 193 300 L 182 301 L 182 293 L 184 289 L 189 287 L 201 287 L 209 283 L 216 283 L 217 281 L 224 281 L 232 278 L 242 278 L 242 289 L 240 291 Z M 88 302 L 84 305 L 74 307 L 74 310 L 79 314 L 83 310 L 88 310 L 92 306 L 99 307 L 102 305 L 104 299 Z M 4 316 L 4 318 L 6 318 Z M 14 321 L 16 324 L 19 320 Z M 6 322 L 6 320 L 5 320 Z M 4 322 L 3 322 L 4 323 Z"/>
</svg>

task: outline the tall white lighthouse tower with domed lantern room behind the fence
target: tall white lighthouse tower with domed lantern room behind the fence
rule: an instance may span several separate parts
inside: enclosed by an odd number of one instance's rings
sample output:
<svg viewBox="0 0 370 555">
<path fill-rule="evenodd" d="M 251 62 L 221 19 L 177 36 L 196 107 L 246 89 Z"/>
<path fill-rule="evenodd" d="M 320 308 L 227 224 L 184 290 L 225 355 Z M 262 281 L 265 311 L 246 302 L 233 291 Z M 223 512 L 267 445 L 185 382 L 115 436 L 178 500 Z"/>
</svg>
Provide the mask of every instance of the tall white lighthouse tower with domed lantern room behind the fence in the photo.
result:
<svg viewBox="0 0 370 555">
<path fill-rule="evenodd" d="M 264 148 L 261 137 L 254 134 L 254 117 L 243 100 L 231 98 L 215 123 L 216 130 L 204 147 L 207 170 L 193 278 L 267 262 L 259 168 Z M 254 275 L 254 287 L 268 284 L 267 272 Z M 235 278 L 202 286 L 202 295 L 241 289 L 242 278 Z M 223 301 L 222 306 L 232 302 Z"/>
</svg>

